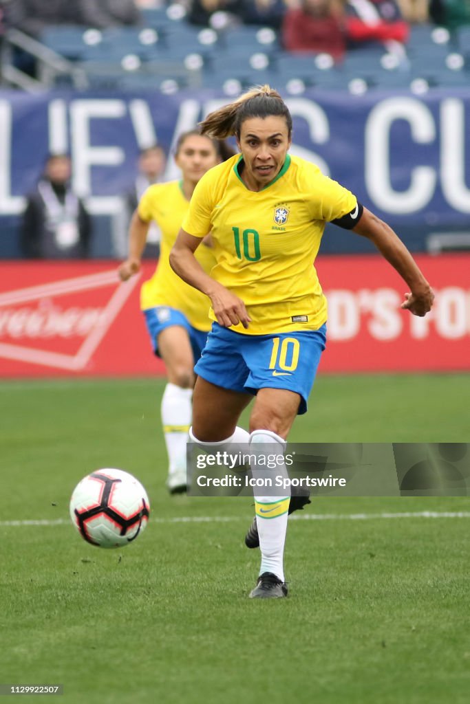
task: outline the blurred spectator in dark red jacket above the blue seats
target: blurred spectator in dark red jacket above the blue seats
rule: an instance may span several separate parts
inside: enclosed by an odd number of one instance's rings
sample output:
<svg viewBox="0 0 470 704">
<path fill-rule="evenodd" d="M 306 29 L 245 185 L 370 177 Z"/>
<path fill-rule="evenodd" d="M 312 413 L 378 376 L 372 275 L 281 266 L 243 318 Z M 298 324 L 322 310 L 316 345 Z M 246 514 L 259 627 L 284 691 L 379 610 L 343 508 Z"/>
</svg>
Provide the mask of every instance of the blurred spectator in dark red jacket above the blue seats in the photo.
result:
<svg viewBox="0 0 470 704">
<path fill-rule="evenodd" d="M 288 51 L 311 51 L 342 58 L 346 35 L 341 4 L 335 0 L 302 0 L 299 8 L 287 10 L 283 44 Z"/>
</svg>

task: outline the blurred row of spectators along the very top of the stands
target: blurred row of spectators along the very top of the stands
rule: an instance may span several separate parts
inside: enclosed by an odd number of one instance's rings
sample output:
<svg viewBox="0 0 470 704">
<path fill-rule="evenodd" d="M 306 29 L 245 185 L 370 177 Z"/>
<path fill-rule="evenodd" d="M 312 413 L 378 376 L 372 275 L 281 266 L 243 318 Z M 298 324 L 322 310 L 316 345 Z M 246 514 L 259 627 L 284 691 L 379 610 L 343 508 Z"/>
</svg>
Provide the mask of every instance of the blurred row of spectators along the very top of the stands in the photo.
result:
<svg viewBox="0 0 470 704">
<path fill-rule="evenodd" d="M 1 27 L 41 37 L 50 25 L 108 29 L 144 25 L 146 11 L 173 8 L 201 27 L 262 25 L 280 30 L 285 49 L 337 52 L 363 41 L 406 42 L 409 23 L 454 29 L 470 23 L 469 0 L 0 0 Z"/>
</svg>

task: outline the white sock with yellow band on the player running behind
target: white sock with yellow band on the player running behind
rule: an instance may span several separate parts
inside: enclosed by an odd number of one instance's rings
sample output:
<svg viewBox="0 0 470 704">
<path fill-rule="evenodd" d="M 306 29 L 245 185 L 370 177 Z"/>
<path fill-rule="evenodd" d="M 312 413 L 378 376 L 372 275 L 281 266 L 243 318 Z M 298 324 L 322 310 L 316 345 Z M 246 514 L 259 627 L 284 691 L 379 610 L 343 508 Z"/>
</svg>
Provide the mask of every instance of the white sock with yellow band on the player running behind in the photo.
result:
<svg viewBox="0 0 470 704">
<path fill-rule="evenodd" d="M 187 432 L 192 420 L 192 389 L 168 382 L 161 399 L 161 423 L 168 452 L 168 473 L 186 471 Z"/>
</svg>

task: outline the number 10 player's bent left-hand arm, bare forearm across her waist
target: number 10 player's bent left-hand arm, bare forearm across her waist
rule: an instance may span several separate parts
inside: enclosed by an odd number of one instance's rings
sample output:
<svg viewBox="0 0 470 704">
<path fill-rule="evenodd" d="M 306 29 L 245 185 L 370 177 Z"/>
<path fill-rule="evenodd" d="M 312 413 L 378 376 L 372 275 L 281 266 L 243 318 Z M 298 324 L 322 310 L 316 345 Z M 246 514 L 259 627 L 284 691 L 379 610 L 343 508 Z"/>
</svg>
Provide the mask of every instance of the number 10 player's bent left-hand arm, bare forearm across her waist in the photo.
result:
<svg viewBox="0 0 470 704">
<path fill-rule="evenodd" d="M 209 296 L 219 325 L 230 327 L 241 322 L 243 327 L 248 327 L 251 318 L 245 303 L 206 274 L 194 256 L 201 241 L 201 237 L 194 237 L 181 229 L 170 252 L 171 268 L 187 284 Z"/>
</svg>

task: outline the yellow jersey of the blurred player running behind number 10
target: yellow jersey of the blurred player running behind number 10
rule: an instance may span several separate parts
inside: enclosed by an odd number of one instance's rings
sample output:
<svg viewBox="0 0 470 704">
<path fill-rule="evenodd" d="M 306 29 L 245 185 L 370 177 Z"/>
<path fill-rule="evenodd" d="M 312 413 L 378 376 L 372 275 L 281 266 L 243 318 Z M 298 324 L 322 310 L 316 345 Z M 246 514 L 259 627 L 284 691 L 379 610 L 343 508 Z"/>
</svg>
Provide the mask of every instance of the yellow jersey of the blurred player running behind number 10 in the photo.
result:
<svg viewBox="0 0 470 704">
<path fill-rule="evenodd" d="M 184 313 L 190 325 L 198 330 L 209 330 L 209 307 L 211 301 L 192 286 L 188 286 L 175 274 L 168 256 L 180 231 L 181 221 L 190 207 L 178 181 L 154 184 L 144 192 L 137 211 L 142 220 L 155 220 L 161 230 L 159 265 L 154 275 L 142 284 L 140 307 L 142 310 L 155 306 L 171 306 Z M 204 244 L 199 245 L 197 260 L 207 273 L 215 265 L 214 251 Z"/>
</svg>

